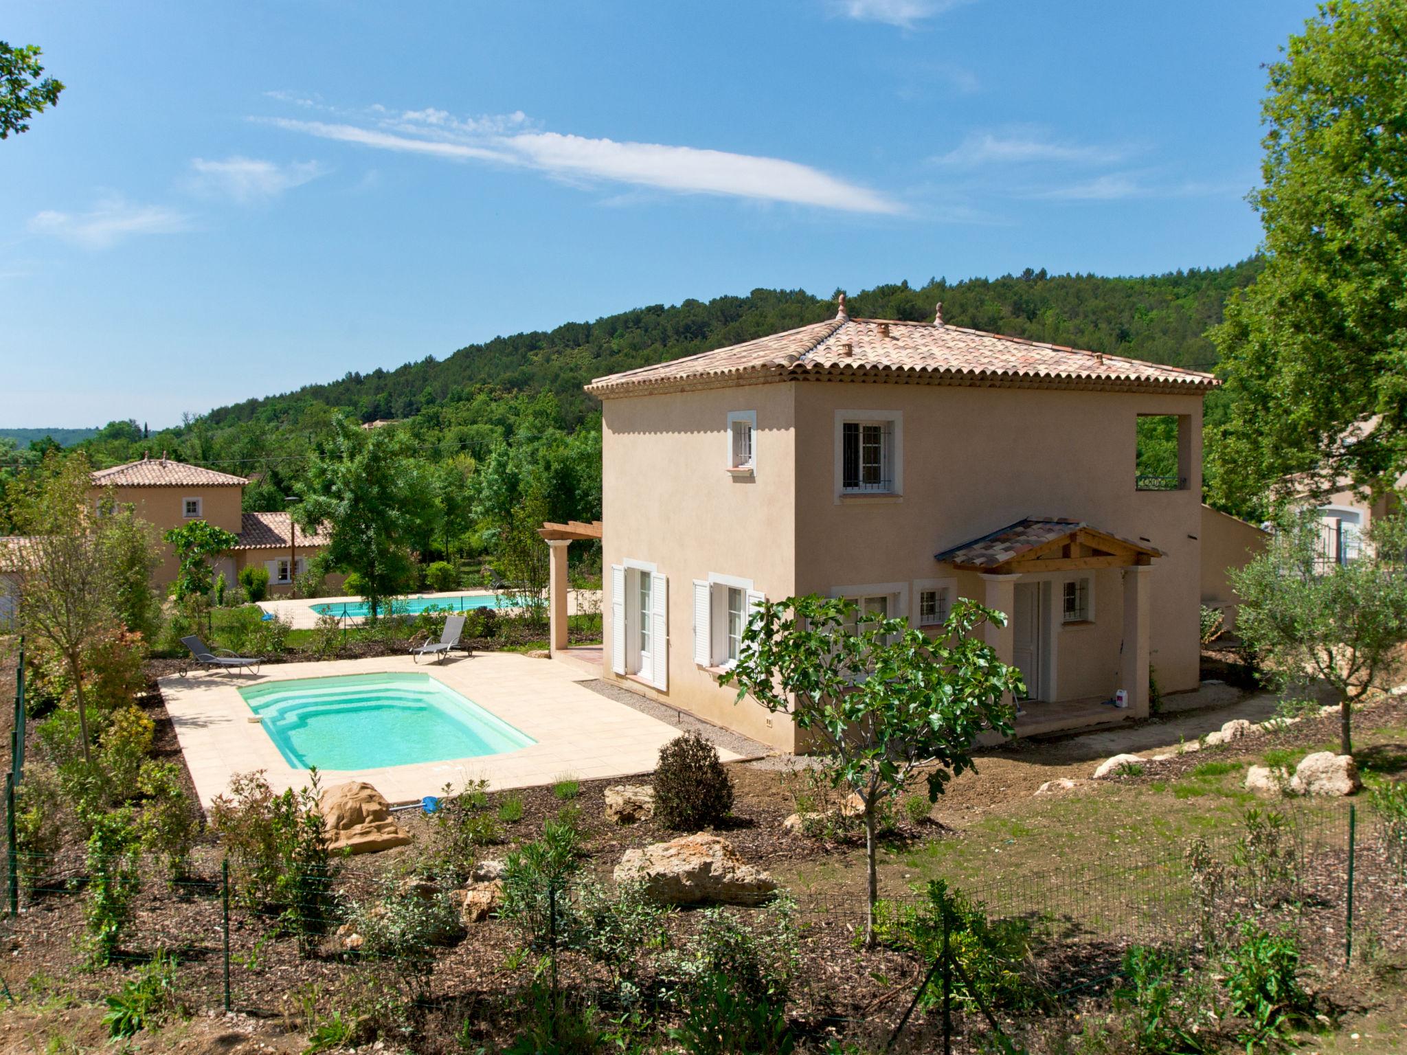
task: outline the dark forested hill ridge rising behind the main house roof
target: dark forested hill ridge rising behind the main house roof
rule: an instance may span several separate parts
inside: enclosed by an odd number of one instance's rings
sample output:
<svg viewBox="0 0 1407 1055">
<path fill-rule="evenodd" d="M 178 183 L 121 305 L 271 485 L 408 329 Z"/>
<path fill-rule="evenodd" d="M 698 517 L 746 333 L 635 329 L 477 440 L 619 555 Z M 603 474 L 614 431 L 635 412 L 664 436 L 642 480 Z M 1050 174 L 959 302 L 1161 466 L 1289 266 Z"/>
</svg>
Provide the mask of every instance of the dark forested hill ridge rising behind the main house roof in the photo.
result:
<svg viewBox="0 0 1407 1055">
<path fill-rule="evenodd" d="M 1259 269 L 1259 260 L 1252 259 L 1135 279 L 1027 270 L 1000 279 L 934 280 L 917 288 L 902 283 L 851 294 L 850 314 L 930 319 L 934 305 L 943 301 L 944 319 L 958 326 L 1209 367 L 1216 353 L 1204 336 L 1207 328 L 1221 321 L 1227 294 L 1249 283 Z M 564 422 L 574 426 L 592 412 L 591 399 L 581 391 L 592 377 L 817 322 L 834 309 L 833 297 L 822 300 L 801 290 L 754 290 L 747 297 L 651 305 L 595 322 L 568 322 L 550 332 L 495 338 L 442 360 L 349 373 L 329 384 L 211 411 L 207 421 L 218 426 L 280 419 L 310 402 L 346 408 L 363 421 L 411 418 L 435 404 L 473 398 L 477 390 L 491 385 L 550 391 Z"/>
</svg>

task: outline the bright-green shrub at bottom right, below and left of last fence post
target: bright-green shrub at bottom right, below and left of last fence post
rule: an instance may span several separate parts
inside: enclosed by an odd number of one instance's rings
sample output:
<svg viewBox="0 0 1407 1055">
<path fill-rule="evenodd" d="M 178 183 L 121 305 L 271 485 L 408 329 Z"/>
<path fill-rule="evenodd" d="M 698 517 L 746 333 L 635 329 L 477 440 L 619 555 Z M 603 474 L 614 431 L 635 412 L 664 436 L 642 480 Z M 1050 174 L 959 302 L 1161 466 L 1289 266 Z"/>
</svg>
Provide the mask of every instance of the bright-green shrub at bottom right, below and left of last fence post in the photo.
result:
<svg viewBox="0 0 1407 1055">
<path fill-rule="evenodd" d="M 1300 985 L 1300 950 L 1293 935 L 1272 934 L 1241 923 L 1241 940 L 1221 961 L 1231 1014 L 1245 1018 L 1238 1032 L 1247 1051 L 1271 1045 L 1285 1030 L 1313 1013 L 1314 1002 Z"/>
</svg>

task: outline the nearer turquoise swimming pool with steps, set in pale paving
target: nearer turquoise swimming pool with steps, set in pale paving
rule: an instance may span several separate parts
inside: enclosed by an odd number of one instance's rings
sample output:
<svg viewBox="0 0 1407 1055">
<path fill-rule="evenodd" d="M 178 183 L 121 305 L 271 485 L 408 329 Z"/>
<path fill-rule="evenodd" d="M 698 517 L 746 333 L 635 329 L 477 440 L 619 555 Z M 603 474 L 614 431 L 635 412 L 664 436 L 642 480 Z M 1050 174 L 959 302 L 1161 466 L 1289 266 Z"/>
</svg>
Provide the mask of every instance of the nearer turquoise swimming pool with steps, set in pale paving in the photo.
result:
<svg viewBox="0 0 1407 1055">
<path fill-rule="evenodd" d="M 537 743 L 429 674 L 297 678 L 239 695 L 298 769 L 445 762 Z"/>
</svg>

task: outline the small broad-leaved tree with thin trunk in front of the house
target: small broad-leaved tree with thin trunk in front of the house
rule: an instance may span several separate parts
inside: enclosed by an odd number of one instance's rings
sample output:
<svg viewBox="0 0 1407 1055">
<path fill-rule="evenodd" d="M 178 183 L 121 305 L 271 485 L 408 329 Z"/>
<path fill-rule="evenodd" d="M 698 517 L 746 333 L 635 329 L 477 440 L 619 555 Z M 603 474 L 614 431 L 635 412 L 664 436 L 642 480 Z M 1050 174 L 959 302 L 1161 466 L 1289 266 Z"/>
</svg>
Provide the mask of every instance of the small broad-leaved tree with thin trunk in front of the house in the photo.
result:
<svg viewBox="0 0 1407 1055">
<path fill-rule="evenodd" d="M 737 665 L 719 681 L 772 713 L 789 713 L 815 737 L 837 788 L 864 803 L 870 899 L 865 942 L 874 944 L 877 827 L 886 799 L 926 769 L 929 800 L 953 776 L 975 769 L 981 733 L 1010 736 L 1020 672 L 974 636 L 1006 616 L 960 599 L 937 637 L 906 619 L 868 619 L 854 602 L 808 596 L 764 602 L 743 633 Z"/>
</svg>

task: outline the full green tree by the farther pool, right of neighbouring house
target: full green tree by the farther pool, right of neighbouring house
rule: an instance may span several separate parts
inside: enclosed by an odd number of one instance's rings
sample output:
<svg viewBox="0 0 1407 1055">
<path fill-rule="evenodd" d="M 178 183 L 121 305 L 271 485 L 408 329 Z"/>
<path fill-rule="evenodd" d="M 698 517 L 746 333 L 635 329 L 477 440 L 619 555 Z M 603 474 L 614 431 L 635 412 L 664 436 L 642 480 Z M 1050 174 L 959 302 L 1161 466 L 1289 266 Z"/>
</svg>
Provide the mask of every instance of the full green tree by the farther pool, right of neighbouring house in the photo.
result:
<svg viewBox="0 0 1407 1055">
<path fill-rule="evenodd" d="M 411 549 L 433 516 L 433 492 L 409 436 L 398 428 L 367 432 L 346 418 L 310 466 L 294 508 L 301 529 L 328 526 L 326 561 L 356 573 L 373 616 L 407 588 Z"/>
</svg>

